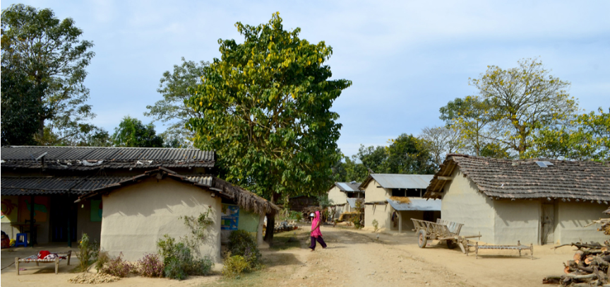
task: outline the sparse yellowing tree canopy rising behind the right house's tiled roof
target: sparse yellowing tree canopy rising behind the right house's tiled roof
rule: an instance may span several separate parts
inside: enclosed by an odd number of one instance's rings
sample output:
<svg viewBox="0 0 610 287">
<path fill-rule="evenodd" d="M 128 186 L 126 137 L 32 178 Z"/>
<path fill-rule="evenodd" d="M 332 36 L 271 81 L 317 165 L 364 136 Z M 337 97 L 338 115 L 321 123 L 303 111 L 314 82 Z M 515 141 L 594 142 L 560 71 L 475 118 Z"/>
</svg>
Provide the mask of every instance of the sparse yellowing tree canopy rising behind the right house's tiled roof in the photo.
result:
<svg viewBox="0 0 610 287">
<path fill-rule="evenodd" d="M 566 91 L 570 83 L 552 76 L 538 59 L 522 59 L 512 69 L 488 66 L 470 84 L 479 95 L 441 107 L 441 119 L 477 156 L 525 158 L 540 131 L 578 110 Z"/>
</svg>

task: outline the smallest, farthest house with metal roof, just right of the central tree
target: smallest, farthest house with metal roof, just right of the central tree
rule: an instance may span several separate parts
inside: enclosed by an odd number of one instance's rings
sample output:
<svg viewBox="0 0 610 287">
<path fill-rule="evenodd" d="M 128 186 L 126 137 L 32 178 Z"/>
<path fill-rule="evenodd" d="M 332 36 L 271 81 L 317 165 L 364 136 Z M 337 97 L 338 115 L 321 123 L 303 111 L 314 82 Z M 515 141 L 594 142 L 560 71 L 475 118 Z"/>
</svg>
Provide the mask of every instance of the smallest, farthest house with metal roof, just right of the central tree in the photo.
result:
<svg viewBox="0 0 610 287">
<path fill-rule="evenodd" d="M 342 213 L 354 212 L 356 200 L 364 199 L 364 191 L 359 189 L 360 182 L 335 182 L 328 189 L 328 199 L 333 201 L 335 216 L 333 219 L 340 218 Z"/>
</svg>

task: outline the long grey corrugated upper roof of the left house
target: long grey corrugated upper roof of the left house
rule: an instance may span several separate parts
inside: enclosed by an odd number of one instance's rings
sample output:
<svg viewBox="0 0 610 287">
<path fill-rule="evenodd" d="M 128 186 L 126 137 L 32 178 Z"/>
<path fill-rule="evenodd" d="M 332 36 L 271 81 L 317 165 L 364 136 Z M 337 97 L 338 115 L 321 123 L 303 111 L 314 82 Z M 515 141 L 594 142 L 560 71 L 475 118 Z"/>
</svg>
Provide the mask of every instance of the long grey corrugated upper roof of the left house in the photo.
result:
<svg viewBox="0 0 610 287">
<path fill-rule="evenodd" d="M 85 146 L 5 146 L 2 168 L 93 170 L 103 168 L 212 168 L 213 151 L 196 148 L 114 148 Z"/>
</svg>

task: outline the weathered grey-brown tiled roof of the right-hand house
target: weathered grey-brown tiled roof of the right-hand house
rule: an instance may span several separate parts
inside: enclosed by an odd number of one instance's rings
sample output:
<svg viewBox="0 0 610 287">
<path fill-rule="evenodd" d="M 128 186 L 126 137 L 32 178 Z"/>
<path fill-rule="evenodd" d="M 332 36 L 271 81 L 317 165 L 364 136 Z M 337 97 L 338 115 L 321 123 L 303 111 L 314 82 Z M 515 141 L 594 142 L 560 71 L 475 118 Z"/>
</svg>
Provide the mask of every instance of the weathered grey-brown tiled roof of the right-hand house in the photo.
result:
<svg viewBox="0 0 610 287">
<path fill-rule="evenodd" d="M 610 201 L 609 163 L 501 160 L 456 154 L 447 156 L 424 197 L 439 198 L 447 182 L 446 178 L 439 177 L 450 177 L 455 168 L 460 168 L 481 192 L 492 198 Z"/>
</svg>

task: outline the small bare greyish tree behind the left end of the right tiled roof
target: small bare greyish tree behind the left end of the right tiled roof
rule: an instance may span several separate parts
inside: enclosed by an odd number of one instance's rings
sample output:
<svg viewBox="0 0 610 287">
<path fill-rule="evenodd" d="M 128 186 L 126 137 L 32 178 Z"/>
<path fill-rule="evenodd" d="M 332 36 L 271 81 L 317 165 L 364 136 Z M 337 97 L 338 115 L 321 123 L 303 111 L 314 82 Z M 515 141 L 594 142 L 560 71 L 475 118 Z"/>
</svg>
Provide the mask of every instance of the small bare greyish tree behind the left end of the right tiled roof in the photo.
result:
<svg viewBox="0 0 610 287">
<path fill-rule="evenodd" d="M 462 147 L 460 133 L 448 127 L 424 127 L 421 129 L 419 139 L 426 146 L 437 166 L 443 164 L 448 153 L 458 153 Z"/>
</svg>

